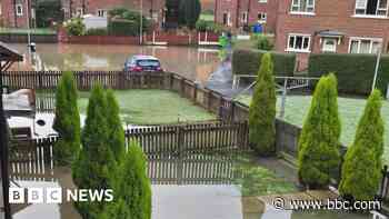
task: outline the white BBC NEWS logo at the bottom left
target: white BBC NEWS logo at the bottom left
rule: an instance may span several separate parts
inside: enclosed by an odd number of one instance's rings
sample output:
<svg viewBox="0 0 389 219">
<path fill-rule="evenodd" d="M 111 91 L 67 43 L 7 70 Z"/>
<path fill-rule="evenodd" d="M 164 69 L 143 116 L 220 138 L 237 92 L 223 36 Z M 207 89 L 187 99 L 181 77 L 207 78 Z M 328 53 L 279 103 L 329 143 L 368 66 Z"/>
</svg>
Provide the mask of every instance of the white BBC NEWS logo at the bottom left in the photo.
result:
<svg viewBox="0 0 389 219">
<path fill-rule="evenodd" d="M 110 202 L 112 189 L 10 188 L 10 203 Z"/>
</svg>

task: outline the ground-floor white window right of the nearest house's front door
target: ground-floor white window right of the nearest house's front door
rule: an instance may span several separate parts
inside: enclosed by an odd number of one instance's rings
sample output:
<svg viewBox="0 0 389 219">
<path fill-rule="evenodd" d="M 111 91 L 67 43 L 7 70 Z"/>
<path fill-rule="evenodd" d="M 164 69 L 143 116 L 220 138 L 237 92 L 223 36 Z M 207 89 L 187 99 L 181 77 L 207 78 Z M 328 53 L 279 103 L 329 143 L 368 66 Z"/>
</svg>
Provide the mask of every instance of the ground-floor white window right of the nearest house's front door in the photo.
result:
<svg viewBox="0 0 389 219">
<path fill-rule="evenodd" d="M 381 48 L 381 39 L 351 38 L 350 53 L 377 53 Z"/>
</svg>

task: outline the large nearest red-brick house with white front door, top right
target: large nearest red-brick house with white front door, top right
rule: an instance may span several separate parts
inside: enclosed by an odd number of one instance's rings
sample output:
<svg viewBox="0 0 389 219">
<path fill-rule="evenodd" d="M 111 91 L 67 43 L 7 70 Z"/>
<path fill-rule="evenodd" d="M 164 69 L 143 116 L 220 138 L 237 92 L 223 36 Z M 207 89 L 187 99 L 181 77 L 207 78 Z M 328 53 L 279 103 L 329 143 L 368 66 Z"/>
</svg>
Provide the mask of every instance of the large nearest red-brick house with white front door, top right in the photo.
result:
<svg viewBox="0 0 389 219">
<path fill-rule="evenodd" d="M 296 52 L 298 68 L 310 52 L 388 51 L 388 0 L 279 0 L 276 50 Z"/>
</svg>

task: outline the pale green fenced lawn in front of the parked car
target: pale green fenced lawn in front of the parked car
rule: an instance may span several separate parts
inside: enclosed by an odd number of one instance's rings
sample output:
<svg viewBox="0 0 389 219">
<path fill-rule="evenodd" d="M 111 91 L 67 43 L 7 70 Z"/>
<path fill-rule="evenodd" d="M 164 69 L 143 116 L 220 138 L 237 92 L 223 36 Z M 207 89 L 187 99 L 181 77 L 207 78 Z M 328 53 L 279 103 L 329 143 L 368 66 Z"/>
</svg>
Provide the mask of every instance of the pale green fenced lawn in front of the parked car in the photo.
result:
<svg viewBox="0 0 389 219">
<path fill-rule="evenodd" d="M 87 112 L 89 92 L 80 92 L 80 113 Z M 216 119 L 190 100 L 167 90 L 114 91 L 120 115 L 129 125 L 160 125 Z"/>
</svg>

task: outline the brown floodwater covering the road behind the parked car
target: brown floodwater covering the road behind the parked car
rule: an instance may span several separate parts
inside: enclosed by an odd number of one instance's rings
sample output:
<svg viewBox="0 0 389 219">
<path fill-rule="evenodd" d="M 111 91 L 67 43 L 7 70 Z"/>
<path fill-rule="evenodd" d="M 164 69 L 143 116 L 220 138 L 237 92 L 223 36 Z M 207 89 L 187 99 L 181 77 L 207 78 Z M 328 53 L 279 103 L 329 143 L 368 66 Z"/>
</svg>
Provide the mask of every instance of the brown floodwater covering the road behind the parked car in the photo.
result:
<svg viewBox="0 0 389 219">
<path fill-rule="evenodd" d="M 14 70 L 24 70 L 31 61 L 27 46 L 10 46 L 24 56 L 24 63 L 16 63 Z M 126 59 L 133 54 L 154 56 L 164 70 L 198 81 L 206 81 L 219 66 L 216 49 L 114 44 L 37 44 L 32 63 L 36 70 L 121 70 Z"/>
</svg>

